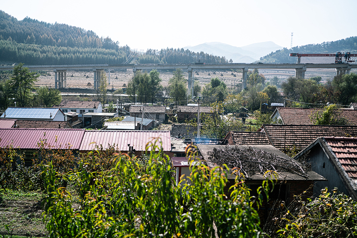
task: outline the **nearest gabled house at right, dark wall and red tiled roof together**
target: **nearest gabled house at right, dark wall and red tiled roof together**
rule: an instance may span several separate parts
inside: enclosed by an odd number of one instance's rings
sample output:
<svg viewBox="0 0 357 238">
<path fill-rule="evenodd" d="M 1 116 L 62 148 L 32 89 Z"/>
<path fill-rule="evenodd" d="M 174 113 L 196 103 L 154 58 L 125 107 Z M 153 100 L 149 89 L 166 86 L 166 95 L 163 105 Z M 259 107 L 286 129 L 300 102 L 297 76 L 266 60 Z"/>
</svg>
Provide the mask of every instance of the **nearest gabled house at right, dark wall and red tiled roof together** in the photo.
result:
<svg viewBox="0 0 357 238">
<path fill-rule="evenodd" d="M 321 189 L 338 192 L 357 200 L 357 138 L 319 137 L 294 158 L 307 155 L 312 170 L 324 176 L 327 181 L 317 181 L 314 194 Z"/>
</svg>

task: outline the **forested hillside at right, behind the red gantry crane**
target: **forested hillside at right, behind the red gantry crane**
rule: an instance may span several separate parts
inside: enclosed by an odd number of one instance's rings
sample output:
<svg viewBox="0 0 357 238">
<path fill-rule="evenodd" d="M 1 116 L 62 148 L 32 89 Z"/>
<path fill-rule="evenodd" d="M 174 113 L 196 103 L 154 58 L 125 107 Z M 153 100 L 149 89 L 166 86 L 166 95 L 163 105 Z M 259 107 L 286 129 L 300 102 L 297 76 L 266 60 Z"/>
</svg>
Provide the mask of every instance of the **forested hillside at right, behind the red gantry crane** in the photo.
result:
<svg viewBox="0 0 357 238">
<path fill-rule="evenodd" d="M 290 53 L 300 54 L 323 54 L 323 53 L 336 53 L 336 52 L 357 52 L 357 36 L 349 37 L 342 40 L 323 42 L 321 44 L 309 44 L 296 46 L 293 48 L 284 48 L 276 50 L 260 58 L 262 63 L 296 63 L 296 57 L 290 57 Z"/>
</svg>

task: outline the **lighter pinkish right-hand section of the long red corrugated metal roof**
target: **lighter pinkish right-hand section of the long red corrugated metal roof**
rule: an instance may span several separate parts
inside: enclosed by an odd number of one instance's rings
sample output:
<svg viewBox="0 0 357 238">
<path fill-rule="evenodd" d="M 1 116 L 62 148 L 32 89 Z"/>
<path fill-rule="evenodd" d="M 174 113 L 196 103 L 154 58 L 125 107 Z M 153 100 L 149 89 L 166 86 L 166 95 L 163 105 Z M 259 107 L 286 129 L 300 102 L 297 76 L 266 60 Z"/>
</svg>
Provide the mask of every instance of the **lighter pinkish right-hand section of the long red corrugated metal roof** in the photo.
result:
<svg viewBox="0 0 357 238">
<path fill-rule="evenodd" d="M 137 151 L 144 151 L 146 144 L 159 138 L 164 151 L 171 150 L 170 131 L 161 130 L 86 130 L 80 150 L 93 150 L 102 145 L 104 149 L 109 145 L 120 151 L 129 151 L 133 146 Z M 160 146 L 160 145 L 159 145 Z"/>
</svg>

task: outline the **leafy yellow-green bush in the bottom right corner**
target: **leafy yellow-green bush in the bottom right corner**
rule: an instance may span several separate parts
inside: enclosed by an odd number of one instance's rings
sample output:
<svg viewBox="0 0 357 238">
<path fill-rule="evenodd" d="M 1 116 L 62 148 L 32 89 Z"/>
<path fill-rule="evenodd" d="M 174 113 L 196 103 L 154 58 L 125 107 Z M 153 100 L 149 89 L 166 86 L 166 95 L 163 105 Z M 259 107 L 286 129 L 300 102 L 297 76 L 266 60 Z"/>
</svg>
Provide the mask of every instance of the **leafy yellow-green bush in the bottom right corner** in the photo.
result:
<svg viewBox="0 0 357 238">
<path fill-rule="evenodd" d="M 296 204 L 293 204 L 296 205 Z M 275 218 L 279 237 L 356 237 L 357 201 L 337 193 L 321 190 L 316 199 L 298 200 L 298 205 L 285 207 Z"/>
</svg>

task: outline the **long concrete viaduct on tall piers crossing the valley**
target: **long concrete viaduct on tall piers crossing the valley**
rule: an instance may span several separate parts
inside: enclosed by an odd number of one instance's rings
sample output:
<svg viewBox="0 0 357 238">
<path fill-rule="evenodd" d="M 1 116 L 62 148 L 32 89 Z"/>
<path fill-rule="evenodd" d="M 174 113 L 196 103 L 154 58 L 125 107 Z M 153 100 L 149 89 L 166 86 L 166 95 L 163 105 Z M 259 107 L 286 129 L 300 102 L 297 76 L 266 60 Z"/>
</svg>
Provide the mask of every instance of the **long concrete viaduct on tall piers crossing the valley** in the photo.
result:
<svg viewBox="0 0 357 238">
<path fill-rule="evenodd" d="M 242 89 L 246 88 L 246 80 L 248 69 L 295 69 L 295 76 L 299 78 L 305 77 L 305 72 L 308 68 L 335 68 L 336 75 L 349 73 L 352 68 L 357 68 L 357 64 L 125 64 L 125 65 L 30 65 L 24 66 L 30 70 L 53 70 L 55 72 L 55 88 L 66 88 L 66 72 L 67 70 L 92 70 L 94 71 L 94 89 L 99 88 L 100 71 L 105 69 L 133 69 L 135 73 L 138 70 L 152 69 L 183 69 L 188 71 L 188 88 L 193 93 L 192 72 L 197 69 L 242 69 Z M 13 69 L 12 66 L 0 66 L 0 70 Z"/>
</svg>

